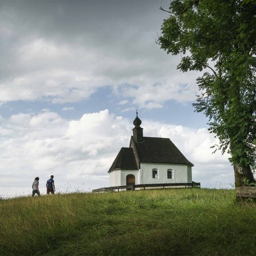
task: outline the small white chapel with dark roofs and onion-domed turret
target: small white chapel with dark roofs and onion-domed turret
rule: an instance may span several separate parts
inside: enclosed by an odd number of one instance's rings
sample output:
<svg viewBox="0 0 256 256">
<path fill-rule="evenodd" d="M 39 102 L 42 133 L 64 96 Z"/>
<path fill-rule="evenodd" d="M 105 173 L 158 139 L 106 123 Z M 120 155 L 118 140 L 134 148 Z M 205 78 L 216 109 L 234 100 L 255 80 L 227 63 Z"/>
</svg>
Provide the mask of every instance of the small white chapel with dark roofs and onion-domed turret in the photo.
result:
<svg viewBox="0 0 256 256">
<path fill-rule="evenodd" d="M 193 163 L 169 138 L 144 137 L 136 114 L 130 146 L 120 149 L 109 168 L 110 186 L 191 184 Z"/>
</svg>

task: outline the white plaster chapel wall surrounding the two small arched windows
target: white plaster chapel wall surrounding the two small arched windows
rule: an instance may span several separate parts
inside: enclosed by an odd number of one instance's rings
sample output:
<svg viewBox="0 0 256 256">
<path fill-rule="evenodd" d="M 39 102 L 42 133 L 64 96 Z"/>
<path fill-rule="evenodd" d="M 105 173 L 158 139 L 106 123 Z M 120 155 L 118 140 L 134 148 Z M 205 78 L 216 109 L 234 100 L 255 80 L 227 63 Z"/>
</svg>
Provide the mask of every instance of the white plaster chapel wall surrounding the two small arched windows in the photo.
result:
<svg viewBox="0 0 256 256">
<path fill-rule="evenodd" d="M 191 167 L 185 164 L 140 163 L 140 184 L 191 182 Z M 153 179 L 152 169 L 157 168 L 158 178 Z M 167 170 L 172 169 L 173 179 L 167 179 Z M 189 175 L 188 175 L 189 174 Z M 136 183 L 137 184 L 137 183 Z"/>
</svg>

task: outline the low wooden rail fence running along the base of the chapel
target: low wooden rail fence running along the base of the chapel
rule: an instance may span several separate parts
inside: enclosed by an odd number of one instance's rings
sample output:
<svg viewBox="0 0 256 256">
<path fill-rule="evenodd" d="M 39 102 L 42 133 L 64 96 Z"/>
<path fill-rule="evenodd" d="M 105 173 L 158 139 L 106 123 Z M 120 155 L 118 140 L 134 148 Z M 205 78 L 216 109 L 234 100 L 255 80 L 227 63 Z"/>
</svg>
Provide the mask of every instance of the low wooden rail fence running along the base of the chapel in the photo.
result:
<svg viewBox="0 0 256 256">
<path fill-rule="evenodd" d="M 112 186 L 108 188 L 93 189 L 93 193 L 119 191 L 119 190 L 136 190 L 136 189 L 172 189 L 172 188 L 200 188 L 200 182 L 192 183 L 158 183 L 158 184 L 139 184 L 139 185 L 124 185 Z"/>
</svg>

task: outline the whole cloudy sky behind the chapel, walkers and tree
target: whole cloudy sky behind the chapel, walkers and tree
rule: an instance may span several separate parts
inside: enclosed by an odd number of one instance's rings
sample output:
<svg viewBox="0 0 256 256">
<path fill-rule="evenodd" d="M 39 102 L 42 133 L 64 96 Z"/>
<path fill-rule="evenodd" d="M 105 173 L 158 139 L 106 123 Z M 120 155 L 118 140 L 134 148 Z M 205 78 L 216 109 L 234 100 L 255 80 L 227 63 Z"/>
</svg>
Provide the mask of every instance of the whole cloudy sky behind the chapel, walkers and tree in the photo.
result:
<svg viewBox="0 0 256 256">
<path fill-rule="evenodd" d="M 0 1 L 0 197 L 109 186 L 109 167 L 144 136 L 170 138 L 193 181 L 231 188 L 228 155 L 194 112 L 198 72 L 156 43 L 169 1 Z"/>
</svg>

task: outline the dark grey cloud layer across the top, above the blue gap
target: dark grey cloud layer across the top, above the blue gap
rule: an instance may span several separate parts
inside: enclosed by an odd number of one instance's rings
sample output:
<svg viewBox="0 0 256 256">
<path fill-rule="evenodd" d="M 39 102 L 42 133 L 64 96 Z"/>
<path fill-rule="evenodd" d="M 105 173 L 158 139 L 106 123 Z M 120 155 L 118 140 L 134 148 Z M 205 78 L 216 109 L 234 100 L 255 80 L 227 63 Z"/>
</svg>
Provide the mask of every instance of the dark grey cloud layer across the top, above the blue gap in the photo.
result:
<svg viewBox="0 0 256 256">
<path fill-rule="evenodd" d="M 62 1 L 49 8 L 47 1 L 3 2 L 0 104 L 79 102 L 103 86 L 141 108 L 194 100 L 198 74 L 181 75 L 180 57 L 155 43 L 166 17 L 160 3 Z"/>
</svg>

